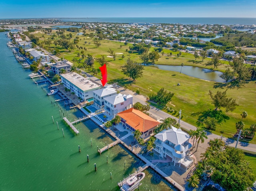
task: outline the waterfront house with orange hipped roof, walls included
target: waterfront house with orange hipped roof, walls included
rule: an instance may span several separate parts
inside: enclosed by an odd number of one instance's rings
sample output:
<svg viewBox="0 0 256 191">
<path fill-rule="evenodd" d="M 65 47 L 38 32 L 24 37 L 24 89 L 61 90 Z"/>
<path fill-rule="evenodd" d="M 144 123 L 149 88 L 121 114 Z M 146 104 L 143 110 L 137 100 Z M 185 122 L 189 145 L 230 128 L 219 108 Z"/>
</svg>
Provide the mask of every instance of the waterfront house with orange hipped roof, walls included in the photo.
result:
<svg viewBox="0 0 256 191">
<path fill-rule="evenodd" d="M 140 130 L 142 138 L 150 136 L 153 130 L 160 124 L 160 122 L 134 108 L 122 111 L 118 113 L 118 116 L 120 116 L 124 128 L 130 129 L 133 132 Z"/>
</svg>

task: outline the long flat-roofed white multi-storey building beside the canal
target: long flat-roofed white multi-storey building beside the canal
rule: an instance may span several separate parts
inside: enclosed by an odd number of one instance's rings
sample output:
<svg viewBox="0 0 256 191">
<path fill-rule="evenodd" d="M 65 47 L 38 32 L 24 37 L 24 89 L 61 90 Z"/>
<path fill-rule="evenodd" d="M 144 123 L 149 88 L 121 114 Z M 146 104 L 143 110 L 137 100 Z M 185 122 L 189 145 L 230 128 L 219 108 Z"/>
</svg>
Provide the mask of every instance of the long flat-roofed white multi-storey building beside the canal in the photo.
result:
<svg viewBox="0 0 256 191">
<path fill-rule="evenodd" d="M 94 90 L 100 89 L 100 85 L 92 82 L 90 78 L 84 78 L 78 73 L 66 73 L 60 75 L 63 85 L 74 92 L 84 101 L 93 99 Z"/>
</svg>

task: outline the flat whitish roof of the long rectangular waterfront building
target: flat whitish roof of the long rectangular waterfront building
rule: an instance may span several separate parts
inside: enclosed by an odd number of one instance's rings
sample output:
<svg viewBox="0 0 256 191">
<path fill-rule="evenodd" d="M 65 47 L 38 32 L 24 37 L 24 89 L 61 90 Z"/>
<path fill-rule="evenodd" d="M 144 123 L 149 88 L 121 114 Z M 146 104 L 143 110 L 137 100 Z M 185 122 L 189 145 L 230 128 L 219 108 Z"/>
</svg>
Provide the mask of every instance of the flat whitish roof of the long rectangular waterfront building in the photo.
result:
<svg viewBox="0 0 256 191">
<path fill-rule="evenodd" d="M 73 72 L 73 73 L 61 74 L 60 77 L 63 77 L 64 79 L 74 84 L 76 87 L 78 87 L 82 91 L 88 91 L 88 90 L 92 90 L 100 87 L 100 85 L 90 81 L 90 78 L 84 78 L 78 73 Z"/>
</svg>

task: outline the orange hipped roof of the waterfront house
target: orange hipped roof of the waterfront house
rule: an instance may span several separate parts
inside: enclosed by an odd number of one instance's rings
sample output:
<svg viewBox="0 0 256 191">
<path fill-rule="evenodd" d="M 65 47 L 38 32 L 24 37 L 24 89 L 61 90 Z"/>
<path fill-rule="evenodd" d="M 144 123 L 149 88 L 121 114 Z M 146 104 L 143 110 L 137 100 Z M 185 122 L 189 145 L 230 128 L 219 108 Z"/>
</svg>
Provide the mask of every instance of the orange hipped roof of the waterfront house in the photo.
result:
<svg viewBox="0 0 256 191">
<path fill-rule="evenodd" d="M 160 124 L 160 122 L 154 120 L 152 117 L 134 108 L 122 111 L 118 115 L 126 120 L 126 124 L 135 130 L 140 130 L 140 132 L 145 132 Z"/>
</svg>

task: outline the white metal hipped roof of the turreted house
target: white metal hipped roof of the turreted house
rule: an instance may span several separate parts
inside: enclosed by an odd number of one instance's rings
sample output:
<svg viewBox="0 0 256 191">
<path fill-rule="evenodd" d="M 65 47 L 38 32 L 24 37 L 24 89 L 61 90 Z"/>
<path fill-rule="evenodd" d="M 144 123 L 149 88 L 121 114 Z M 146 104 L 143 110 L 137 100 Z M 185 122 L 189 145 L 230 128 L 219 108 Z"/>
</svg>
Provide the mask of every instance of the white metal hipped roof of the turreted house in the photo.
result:
<svg viewBox="0 0 256 191">
<path fill-rule="evenodd" d="M 187 133 L 183 132 L 181 129 L 177 129 L 174 126 L 171 127 L 171 129 L 164 130 L 156 134 L 155 137 L 162 142 L 168 140 L 175 145 L 181 145 L 190 138 L 190 136 Z"/>
</svg>

